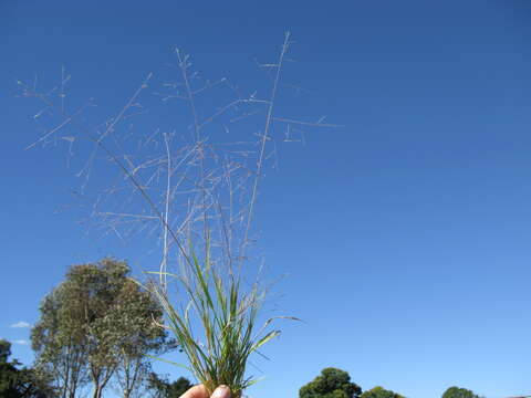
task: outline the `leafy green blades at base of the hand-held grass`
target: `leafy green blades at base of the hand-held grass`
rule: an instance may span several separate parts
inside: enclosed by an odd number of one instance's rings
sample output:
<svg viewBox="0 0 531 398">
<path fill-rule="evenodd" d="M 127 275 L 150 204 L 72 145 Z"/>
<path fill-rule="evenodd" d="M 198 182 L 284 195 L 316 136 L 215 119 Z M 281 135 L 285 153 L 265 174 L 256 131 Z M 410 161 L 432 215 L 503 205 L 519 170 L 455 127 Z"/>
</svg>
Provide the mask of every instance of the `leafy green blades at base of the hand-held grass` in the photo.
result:
<svg viewBox="0 0 531 398">
<path fill-rule="evenodd" d="M 278 336 L 280 331 L 266 333 L 273 318 L 256 331 L 263 293 L 257 284 L 243 292 L 239 276 L 222 275 L 216 270 L 208 241 L 202 263 L 191 248 L 185 261 L 189 272 L 180 275 L 166 272 L 165 276 L 173 277 L 183 287 L 188 305 L 174 306 L 167 290 L 159 283 L 154 282 L 148 286 L 167 315 L 168 325 L 160 326 L 174 333 L 189 359 L 189 366 L 184 367 L 194 373 L 208 391 L 226 385 L 230 387 L 232 397 L 240 398 L 243 390 L 257 381 L 256 378 L 246 377 L 249 356 Z M 202 331 L 200 338 L 195 333 L 198 329 L 196 321 Z"/>
</svg>

